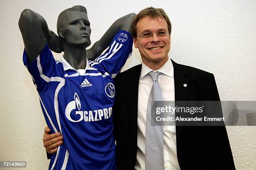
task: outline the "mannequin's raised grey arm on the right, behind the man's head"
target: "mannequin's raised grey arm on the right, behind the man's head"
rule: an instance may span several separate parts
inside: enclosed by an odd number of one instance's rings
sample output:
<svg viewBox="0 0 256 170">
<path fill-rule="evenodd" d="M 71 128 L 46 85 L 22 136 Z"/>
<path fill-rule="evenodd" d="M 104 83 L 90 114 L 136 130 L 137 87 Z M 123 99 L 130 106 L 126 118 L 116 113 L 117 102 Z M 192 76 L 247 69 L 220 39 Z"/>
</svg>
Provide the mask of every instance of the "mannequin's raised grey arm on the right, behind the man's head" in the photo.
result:
<svg viewBox="0 0 256 170">
<path fill-rule="evenodd" d="M 131 32 L 131 23 L 135 15 L 135 13 L 130 13 L 116 20 L 110 26 L 110 28 L 108 28 L 100 40 L 95 42 L 94 45 L 86 51 L 88 60 L 95 60 L 97 57 L 99 57 L 101 53 L 110 45 L 110 42 L 119 30 Z"/>
</svg>

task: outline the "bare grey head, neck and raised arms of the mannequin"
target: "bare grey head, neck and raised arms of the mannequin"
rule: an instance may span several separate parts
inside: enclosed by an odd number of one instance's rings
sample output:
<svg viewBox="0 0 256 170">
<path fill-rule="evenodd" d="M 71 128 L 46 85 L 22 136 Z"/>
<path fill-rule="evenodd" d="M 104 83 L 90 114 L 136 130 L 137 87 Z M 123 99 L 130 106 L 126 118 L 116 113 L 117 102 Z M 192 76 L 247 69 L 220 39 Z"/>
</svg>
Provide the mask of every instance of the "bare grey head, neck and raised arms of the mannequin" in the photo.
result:
<svg viewBox="0 0 256 170">
<path fill-rule="evenodd" d="M 87 10 L 83 6 L 74 6 L 59 14 L 57 21 L 59 36 L 49 30 L 46 20 L 40 14 L 30 9 L 23 10 L 18 24 L 30 61 L 36 59 L 47 42 L 50 50 L 57 53 L 64 51 L 64 58 L 77 70 L 85 68 L 86 57 L 88 60 L 94 60 L 100 56 L 118 30 L 129 32 L 135 15 L 131 13 L 116 20 L 100 40 L 88 50 L 85 48 L 91 45 L 91 28 Z"/>
</svg>

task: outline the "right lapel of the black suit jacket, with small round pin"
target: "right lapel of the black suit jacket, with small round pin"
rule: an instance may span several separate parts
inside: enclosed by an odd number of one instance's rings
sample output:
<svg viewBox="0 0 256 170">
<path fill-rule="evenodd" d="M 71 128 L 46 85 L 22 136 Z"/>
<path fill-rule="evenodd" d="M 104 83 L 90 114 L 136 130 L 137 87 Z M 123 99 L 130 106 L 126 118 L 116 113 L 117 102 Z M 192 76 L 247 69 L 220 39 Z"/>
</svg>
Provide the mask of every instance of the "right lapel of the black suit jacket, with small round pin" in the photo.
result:
<svg viewBox="0 0 256 170">
<path fill-rule="evenodd" d="M 174 68 L 174 90 L 175 90 L 175 101 L 187 101 L 189 94 L 189 79 L 185 78 L 187 72 L 182 67 L 172 60 Z M 187 85 L 187 86 L 186 86 Z M 186 86 L 186 87 L 184 87 Z M 177 117 L 177 115 L 175 116 Z M 180 142 L 182 135 L 183 126 L 176 126 L 176 140 L 177 145 Z"/>
</svg>

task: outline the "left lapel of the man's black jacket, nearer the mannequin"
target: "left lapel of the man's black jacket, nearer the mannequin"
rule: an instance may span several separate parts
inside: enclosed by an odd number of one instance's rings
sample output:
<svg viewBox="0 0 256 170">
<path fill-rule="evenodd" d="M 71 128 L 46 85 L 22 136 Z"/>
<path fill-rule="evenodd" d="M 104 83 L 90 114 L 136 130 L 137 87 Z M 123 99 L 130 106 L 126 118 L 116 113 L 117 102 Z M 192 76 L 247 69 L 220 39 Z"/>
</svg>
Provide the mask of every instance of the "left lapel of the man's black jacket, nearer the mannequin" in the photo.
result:
<svg viewBox="0 0 256 170">
<path fill-rule="evenodd" d="M 130 75 L 131 88 L 130 88 L 130 121 L 131 121 L 131 132 L 134 141 L 134 146 L 137 147 L 137 123 L 138 123 L 138 84 L 141 75 L 141 65 L 135 66 L 132 74 Z"/>
</svg>

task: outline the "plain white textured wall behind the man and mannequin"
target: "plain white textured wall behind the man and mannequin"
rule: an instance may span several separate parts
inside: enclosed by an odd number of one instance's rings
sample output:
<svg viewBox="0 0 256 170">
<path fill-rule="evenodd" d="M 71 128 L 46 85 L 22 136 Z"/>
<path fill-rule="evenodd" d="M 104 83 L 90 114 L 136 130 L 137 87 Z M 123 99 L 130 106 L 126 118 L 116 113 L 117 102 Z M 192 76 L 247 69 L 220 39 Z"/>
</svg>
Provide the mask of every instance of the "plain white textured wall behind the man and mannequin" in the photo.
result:
<svg viewBox="0 0 256 170">
<path fill-rule="evenodd" d="M 169 55 L 174 61 L 212 72 L 221 100 L 256 100 L 255 0 L 1 0 L 0 161 L 27 161 L 29 170 L 48 168 L 42 141 L 46 123 L 23 66 L 18 19 L 22 10 L 30 8 L 44 16 L 56 32 L 59 13 L 74 5 L 87 7 L 92 43 L 125 14 L 147 6 L 163 8 L 172 22 Z M 125 69 L 140 62 L 134 49 Z M 227 130 L 236 168 L 255 170 L 256 127 Z"/>
</svg>

